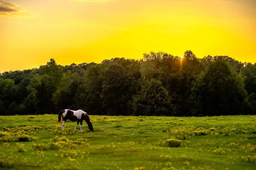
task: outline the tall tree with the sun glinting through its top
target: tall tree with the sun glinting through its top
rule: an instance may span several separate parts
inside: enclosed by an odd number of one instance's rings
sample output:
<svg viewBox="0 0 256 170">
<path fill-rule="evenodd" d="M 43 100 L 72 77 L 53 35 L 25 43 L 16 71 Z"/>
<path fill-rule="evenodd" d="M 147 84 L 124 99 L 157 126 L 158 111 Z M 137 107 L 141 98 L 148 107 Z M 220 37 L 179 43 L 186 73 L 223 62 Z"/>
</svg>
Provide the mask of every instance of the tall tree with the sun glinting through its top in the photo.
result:
<svg viewBox="0 0 256 170">
<path fill-rule="evenodd" d="M 165 87 L 170 93 L 176 115 L 189 116 L 191 88 L 201 72 L 207 69 L 207 61 L 198 59 L 190 50 L 185 51 L 183 58 L 176 60 L 179 70 L 176 69 L 175 72 L 169 74 Z M 162 79 L 160 80 L 163 81 Z"/>
</svg>

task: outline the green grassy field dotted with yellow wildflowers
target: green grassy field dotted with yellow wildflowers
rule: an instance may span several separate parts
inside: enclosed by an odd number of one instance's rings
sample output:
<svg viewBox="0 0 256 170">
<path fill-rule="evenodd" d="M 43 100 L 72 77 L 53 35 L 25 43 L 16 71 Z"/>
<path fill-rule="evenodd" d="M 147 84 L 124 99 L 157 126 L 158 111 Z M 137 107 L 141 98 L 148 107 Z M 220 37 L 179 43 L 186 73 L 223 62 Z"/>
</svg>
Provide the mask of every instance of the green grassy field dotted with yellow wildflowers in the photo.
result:
<svg viewBox="0 0 256 170">
<path fill-rule="evenodd" d="M 0 169 L 256 169 L 256 116 L 90 118 L 0 116 Z"/>
</svg>

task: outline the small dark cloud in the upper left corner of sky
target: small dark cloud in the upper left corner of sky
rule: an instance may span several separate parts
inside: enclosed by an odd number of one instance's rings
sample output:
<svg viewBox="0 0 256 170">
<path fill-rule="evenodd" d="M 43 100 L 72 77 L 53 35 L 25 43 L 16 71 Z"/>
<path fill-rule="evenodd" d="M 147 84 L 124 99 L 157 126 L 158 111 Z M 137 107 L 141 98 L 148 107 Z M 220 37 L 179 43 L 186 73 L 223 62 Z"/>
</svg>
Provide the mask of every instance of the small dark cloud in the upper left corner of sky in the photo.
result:
<svg viewBox="0 0 256 170">
<path fill-rule="evenodd" d="M 8 3 L 4 0 L 0 1 L 0 15 L 6 15 L 9 17 L 31 16 L 23 13 L 22 11 L 24 11 L 24 9 L 20 9 L 19 6 L 13 3 Z"/>
</svg>

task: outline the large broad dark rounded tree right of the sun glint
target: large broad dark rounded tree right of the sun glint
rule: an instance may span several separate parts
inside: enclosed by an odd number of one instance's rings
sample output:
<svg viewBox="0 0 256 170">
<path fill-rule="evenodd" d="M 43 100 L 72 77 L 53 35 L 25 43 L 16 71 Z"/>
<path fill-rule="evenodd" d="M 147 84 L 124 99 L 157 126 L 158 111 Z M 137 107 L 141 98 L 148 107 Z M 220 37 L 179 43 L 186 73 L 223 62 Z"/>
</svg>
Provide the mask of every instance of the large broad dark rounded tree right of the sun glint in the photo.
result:
<svg viewBox="0 0 256 170">
<path fill-rule="evenodd" d="M 194 83 L 190 102 L 194 116 L 236 115 L 246 96 L 240 75 L 227 62 L 217 60 L 209 65 Z"/>
</svg>

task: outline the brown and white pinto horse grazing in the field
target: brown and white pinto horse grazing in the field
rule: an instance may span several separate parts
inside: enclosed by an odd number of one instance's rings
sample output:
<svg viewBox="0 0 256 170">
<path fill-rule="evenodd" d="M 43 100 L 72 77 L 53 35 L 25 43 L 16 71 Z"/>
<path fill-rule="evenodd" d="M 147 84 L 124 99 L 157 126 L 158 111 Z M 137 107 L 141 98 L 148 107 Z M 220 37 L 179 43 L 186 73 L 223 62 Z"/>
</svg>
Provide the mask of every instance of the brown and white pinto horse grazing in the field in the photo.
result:
<svg viewBox="0 0 256 170">
<path fill-rule="evenodd" d="M 86 112 L 82 111 L 82 110 L 77 110 L 77 111 L 72 111 L 69 109 L 64 109 L 61 110 L 58 113 L 58 122 L 57 125 L 61 123 L 61 117 L 62 117 L 62 130 L 64 130 L 64 124 L 67 120 L 71 120 L 73 122 L 77 121 L 76 123 L 76 127 L 78 126 L 79 122 L 80 122 L 80 131 L 83 132 L 82 130 L 82 123 L 83 121 L 85 121 L 90 129 L 90 131 L 93 132 L 93 123 L 90 121 L 90 117 L 87 115 Z M 56 125 L 56 127 L 57 127 Z M 76 127 L 75 127 L 75 131 L 76 131 Z"/>
</svg>

